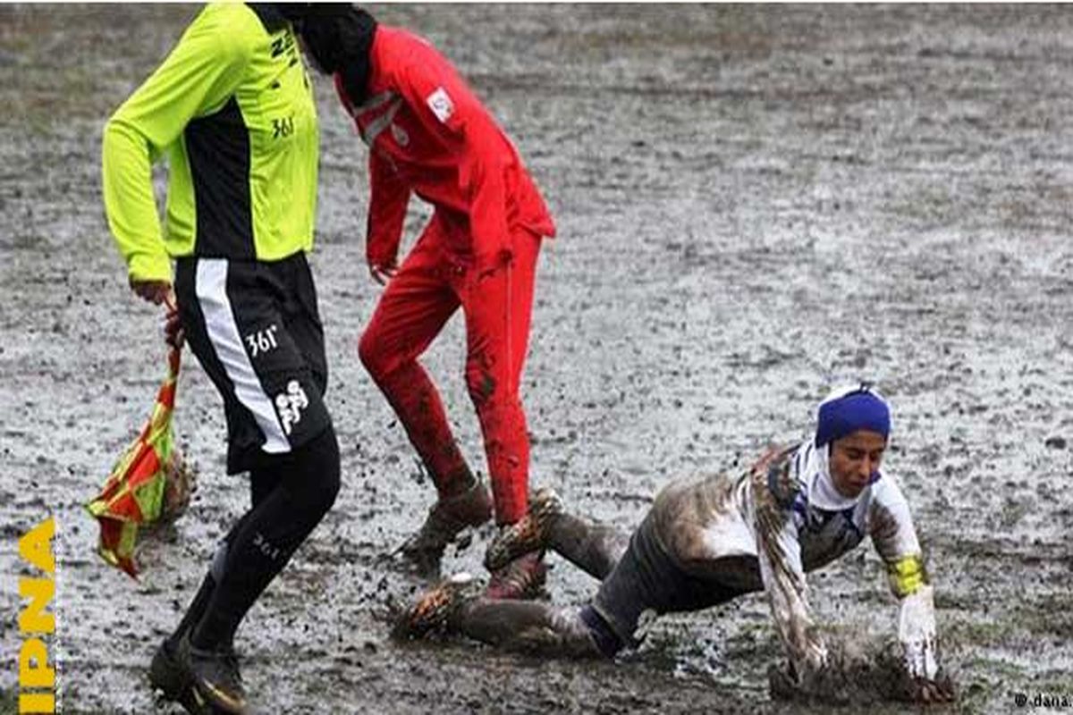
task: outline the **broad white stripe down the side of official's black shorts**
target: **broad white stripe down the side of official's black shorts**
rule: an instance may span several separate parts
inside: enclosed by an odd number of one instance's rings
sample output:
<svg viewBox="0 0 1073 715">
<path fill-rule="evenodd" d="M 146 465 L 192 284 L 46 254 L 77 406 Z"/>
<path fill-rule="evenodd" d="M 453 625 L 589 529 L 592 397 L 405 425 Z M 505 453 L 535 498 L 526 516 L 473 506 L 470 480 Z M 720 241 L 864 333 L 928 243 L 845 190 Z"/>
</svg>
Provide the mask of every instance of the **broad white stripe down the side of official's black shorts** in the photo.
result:
<svg viewBox="0 0 1073 715">
<path fill-rule="evenodd" d="M 265 435 L 265 443 L 261 449 L 271 455 L 291 451 L 291 443 L 283 434 L 271 399 L 261 387 L 261 381 L 253 372 L 253 364 L 250 363 L 246 348 L 242 347 L 242 337 L 238 332 L 231 301 L 227 300 L 226 258 L 197 260 L 194 293 L 205 316 L 208 340 L 212 343 L 216 356 L 235 388 L 235 397 L 253 414 L 258 427 Z"/>
</svg>

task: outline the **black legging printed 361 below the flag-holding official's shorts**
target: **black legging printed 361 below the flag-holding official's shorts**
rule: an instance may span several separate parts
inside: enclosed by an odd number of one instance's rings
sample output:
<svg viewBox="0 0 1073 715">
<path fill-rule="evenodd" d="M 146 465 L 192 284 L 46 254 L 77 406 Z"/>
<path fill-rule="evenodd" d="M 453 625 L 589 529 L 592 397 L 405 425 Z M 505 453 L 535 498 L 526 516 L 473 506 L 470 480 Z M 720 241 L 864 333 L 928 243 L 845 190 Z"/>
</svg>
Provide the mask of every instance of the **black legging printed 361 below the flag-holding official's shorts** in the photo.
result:
<svg viewBox="0 0 1073 715">
<path fill-rule="evenodd" d="M 335 502 L 339 446 L 330 428 L 276 464 L 279 487 L 229 535 L 222 575 L 191 635 L 197 647 L 216 650 L 231 643 L 247 611 Z"/>
</svg>

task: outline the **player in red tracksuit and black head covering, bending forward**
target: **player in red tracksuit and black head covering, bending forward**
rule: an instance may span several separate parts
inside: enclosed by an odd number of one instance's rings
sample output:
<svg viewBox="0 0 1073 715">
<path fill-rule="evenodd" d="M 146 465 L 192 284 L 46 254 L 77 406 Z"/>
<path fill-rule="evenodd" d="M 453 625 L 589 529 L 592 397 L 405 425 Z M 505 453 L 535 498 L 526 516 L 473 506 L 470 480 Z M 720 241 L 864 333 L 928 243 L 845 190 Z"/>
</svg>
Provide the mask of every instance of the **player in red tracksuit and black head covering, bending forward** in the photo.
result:
<svg viewBox="0 0 1073 715">
<path fill-rule="evenodd" d="M 402 548 L 436 570 L 444 548 L 490 518 L 487 490 L 462 458 L 418 357 L 460 307 L 466 384 L 484 436 L 498 524 L 525 516 L 529 436 L 518 398 L 543 237 L 555 224 L 514 145 L 454 66 L 426 40 L 349 5 L 312 5 L 299 29 L 369 147 L 366 256 L 386 283 L 358 346 L 406 427 L 439 500 Z M 398 264 L 412 194 L 435 207 Z M 493 575 L 489 594 L 518 597 L 544 578 L 540 556 Z"/>
</svg>

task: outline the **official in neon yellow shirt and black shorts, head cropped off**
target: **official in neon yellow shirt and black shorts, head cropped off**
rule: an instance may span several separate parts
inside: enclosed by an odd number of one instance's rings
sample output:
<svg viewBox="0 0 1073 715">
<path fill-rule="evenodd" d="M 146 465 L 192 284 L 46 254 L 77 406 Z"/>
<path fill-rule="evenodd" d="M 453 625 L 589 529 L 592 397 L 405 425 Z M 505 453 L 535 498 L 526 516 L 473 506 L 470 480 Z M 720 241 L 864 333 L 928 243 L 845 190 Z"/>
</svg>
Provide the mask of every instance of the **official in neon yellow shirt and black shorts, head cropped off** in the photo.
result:
<svg viewBox="0 0 1073 715">
<path fill-rule="evenodd" d="M 248 707 L 235 630 L 339 489 L 306 262 L 319 130 L 292 26 L 306 10 L 207 5 L 104 130 L 104 205 L 130 285 L 157 304 L 174 296 L 168 340 L 190 344 L 223 398 L 227 472 L 250 474 L 252 508 L 150 668 L 191 712 Z M 161 226 L 150 167 L 165 157 Z"/>
</svg>

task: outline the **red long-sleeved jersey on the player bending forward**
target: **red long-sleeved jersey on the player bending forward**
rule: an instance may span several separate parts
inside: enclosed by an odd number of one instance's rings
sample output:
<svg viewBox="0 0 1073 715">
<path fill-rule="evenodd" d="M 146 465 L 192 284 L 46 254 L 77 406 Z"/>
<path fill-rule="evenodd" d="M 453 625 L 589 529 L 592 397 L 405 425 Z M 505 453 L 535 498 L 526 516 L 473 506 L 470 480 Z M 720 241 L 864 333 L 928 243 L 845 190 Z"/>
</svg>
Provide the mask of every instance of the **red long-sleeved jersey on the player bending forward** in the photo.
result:
<svg viewBox="0 0 1073 715">
<path fill-rule="evenodd" d="M 555 235 L 517 149 L 435 47 L 380 25 L 369 51 L 369 99 L 354 106 L 338 75 L 336 90 L 369 145 L 371 263 L 397 255 L 411 192 L 461 229 L 450 232 L 450 248 L 462 254 L 508 249 L 517 226 Z"/>
</svg>

